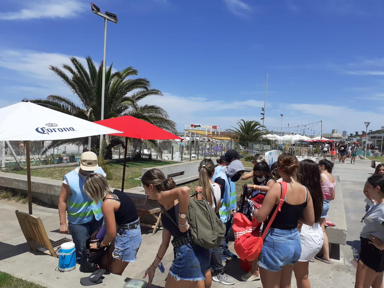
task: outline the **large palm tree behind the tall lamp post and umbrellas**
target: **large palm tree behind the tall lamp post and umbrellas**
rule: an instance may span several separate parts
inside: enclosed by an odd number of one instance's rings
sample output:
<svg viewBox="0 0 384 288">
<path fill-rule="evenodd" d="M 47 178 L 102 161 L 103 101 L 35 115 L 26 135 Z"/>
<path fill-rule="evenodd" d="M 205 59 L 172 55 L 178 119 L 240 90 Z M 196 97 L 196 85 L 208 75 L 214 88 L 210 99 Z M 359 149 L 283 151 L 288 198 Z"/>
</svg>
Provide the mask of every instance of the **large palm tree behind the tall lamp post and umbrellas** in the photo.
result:
<svg viewBox="0 0 384 288">
<path fill-rule="evenodd" d="M 75 57 L 70 57 L 71 65 L 63 64 L 62 68 L 50 66 L 56 75 L 58 75 L 71 91 L 78 96 L 79 103 L 75 103 L 69 98 L 58 95 L 49 95 L 46 99 L 32 99 L 33 103 L 41 106 L 54 109 L 72 116 L 76 116 L 88 121 L 98 121 L 101 119 L 101 89 L 102 89 L 102 69 L 103 63 L 100 63 L 96 68 L 91 57 L 86 57 L 88 70 Z M 67 74 L 68 73 L 68 74 Z M 113 71 L 112 65 L 105 73 L 105 91 L 104 91 L 104 119 L 109 119 L 118 116 L 130 115 L 144 121 L 150 122 L 169 132 L 176 132 L 176 124 L 169 119 L 168 113 L 156 105 L 139 105 L 141 99 L 147 96 L 162 96 L 161 91 L 152 89 L 150 82 L 146 78 L 128 78 L 137 75 L 139 71 L 132 66 L 126 67 L 121 71 Z M 93 136 L 94 141 L 91 141 L 93 146 L 90 147 L 93 151 L 98 151 L 99 141 Z M 124 145 L 123 137 L 113 136 L 109 138 L 107 150 L 112 147 L 122 144 Z M 88 145 L 88 137 L 52 141 L 49 147 L 56 147 L 62 144 L 77 144 Z M 135 144 L 136 151 L 140 140 L 129 139 L 129 144 Z M 153 148 L 161 154 L 161 149 L 157 141 L 143 141 L 148 148 Z M 43 151 L 43 152 L 45 152 Z"/>
</svg>

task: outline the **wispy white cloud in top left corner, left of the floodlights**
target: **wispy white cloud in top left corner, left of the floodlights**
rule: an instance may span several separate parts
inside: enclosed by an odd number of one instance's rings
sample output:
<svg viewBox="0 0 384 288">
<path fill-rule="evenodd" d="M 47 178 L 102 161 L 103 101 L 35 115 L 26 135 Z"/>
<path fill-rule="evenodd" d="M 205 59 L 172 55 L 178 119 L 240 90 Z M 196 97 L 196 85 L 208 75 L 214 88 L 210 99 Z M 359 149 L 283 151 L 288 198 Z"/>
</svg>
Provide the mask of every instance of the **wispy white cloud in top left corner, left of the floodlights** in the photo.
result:
<svg viewBox="0 0 384 288">
<path fill-rule="evenodd" d="M 29 20 L 40 18 L 73 18 L 86 8 L 86 3 L 78 0 L 24 1 L 25 8 L 14 12 L 0 12 L 0 20 Z"/>
</svg>

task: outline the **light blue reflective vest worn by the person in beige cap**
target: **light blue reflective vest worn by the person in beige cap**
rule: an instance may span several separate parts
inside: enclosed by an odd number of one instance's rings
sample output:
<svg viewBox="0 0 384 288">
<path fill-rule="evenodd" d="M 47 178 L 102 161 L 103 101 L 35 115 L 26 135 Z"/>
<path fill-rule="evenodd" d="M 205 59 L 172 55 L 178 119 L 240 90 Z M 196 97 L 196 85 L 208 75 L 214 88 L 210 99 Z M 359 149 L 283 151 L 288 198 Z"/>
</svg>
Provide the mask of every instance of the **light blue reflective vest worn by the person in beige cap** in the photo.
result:
<svg viewBox="0 0 384 288">
<path fill-rule="evenodd" d="M 95 173 L 103 174 L 104 171 L 99 167 Z M 68 222 L 83 224 L 91 222 L 93 216 L 96 220 L 103 218 L 103 213 L 101 212 L 103 201 L 95 203 L 88 197 L 83 189 L 85 179 L 79 176 L 76 169 L 66 174 L 65 177 L 68 179 L 71 189 L 71 195 L 68 200 Z"/>
</svg>

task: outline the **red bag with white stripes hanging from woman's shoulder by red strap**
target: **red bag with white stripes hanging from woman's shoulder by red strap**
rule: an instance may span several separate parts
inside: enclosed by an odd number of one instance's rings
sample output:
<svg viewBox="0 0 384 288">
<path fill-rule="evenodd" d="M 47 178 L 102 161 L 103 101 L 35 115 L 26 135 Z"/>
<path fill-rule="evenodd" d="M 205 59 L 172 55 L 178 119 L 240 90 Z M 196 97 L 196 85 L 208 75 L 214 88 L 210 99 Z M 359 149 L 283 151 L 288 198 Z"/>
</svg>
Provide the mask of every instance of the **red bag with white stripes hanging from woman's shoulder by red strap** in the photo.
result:
<svg viewBox="0 0 384 288">
<path fill-rule="evenodd" d="M 281 210 L 281 205 L 283 205 L 285 194 L 287 192 L 286 182 L 280 182 L 280 185 L 281 198 L 279 205 L 277 205 L 275 212 L 273 212 L 261 237 L 259 236 L 261 223 L 258 223 L 255 218 L 252 218 L 252 222 L 250 222 L 244 214 L 235 214 L 232 228 L 235 235 L 235 251 L 240 259 L 253 261 L 259 257 L 263 248 L 263 241 L 266 233 L 268 233 L 273 220 L 275 220 L 277 212 Z"/>
</svg>

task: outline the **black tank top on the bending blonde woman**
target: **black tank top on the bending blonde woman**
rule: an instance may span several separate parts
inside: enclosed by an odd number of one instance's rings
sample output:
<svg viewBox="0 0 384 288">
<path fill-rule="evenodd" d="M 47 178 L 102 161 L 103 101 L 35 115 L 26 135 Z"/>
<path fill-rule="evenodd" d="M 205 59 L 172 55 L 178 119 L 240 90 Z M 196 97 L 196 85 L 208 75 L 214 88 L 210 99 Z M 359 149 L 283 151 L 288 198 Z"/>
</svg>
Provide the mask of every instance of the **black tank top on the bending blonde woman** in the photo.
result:
<svg viewBox="0 0 384 288">
<path fill-rule="evenodd" d="M 115 211 L 115 219 L 118 225 L 125 225 L 132 222 L 135 222 L 139 218 L 137 213 L 136 206 L 133 203 L 132 199 L 121 192 L 120 190 L 113 190 L 112 194 L 116 195 L 118 199 L 113 198 L 104 198 L 103 201 L 107 199 L 116 200 L 120 202 L 120 207 Z"/>
</svg>

